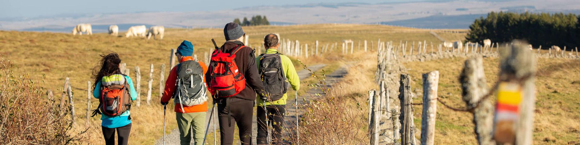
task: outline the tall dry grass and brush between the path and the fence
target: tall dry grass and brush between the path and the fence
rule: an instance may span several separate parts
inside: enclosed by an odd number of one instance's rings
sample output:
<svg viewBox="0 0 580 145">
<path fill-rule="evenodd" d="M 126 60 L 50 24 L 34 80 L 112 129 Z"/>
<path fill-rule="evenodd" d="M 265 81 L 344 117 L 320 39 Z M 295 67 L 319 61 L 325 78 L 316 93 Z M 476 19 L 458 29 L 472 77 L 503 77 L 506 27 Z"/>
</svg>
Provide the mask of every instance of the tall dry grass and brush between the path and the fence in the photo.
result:
<svg viewBox="0 0 580 145">
<path fill-rule="evenodd" d="M 288 141 L 291 144 L 367 144 L 366 112 L 361 104 L 354 103 L 358 101 L 353 95 L 358 94 L 331 93 L 340 89 L 332 90 L 326 85 L 324 70 L 316 74 L 305 64 L 302 65 L 313 78 L 318 79 L 317 83 L 309 84 L 309 88 L 320 90 L 320 93 L 308 97 L 316 100 L 305 100 L 305 104 L 298 106 L 298 113 L 302 114 L 298 128 L 300 137 L 296 139 L 296 135 L 292 135 Z M 295 126 L 287 129 L 294 132 L 290 129 L 295 129 Z"/>
</svg>

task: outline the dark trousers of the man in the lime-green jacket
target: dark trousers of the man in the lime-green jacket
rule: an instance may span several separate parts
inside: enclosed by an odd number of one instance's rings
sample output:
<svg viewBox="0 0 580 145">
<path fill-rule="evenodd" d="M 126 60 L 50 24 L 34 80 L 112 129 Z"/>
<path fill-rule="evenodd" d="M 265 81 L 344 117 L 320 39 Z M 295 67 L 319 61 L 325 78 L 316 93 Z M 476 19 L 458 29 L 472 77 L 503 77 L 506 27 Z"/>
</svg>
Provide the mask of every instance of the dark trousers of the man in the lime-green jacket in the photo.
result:
<svg viewBox="0 0 580 145">
<path fill-rule="evenodd" d="M 286 112 L 286 105 L 267 105 L 266 110 L 268 111 L 268 124 L 271 128 L 268 129 L 266 125 L 266 114 L 264 113 L 264 107 L 258 106 L 256 111 L 256 117 L 258 118 L 258 136 L 256 136 L 256 142 L 258 144 L 282 144 L 282 125 L 284 125 L 284 113 Z M 274 123 L 276 122 L 276 123 Z M 268 143 L 268 131 L 274 132 L 272 135 L 272 142 Z"/>
</svg>

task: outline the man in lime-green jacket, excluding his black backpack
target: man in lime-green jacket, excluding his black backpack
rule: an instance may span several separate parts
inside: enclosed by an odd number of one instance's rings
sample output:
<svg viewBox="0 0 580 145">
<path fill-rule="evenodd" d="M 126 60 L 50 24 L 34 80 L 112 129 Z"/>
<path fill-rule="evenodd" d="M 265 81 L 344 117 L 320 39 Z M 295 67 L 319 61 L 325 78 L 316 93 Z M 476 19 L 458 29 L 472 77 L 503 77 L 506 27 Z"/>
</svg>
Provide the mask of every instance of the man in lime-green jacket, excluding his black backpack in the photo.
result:
<svg viewBox="0 0 580 145">
<path fill-rule="evenodd" d="M 278 36 L 276 34 L 268 34 L 266 35 L 266 37 L 264 37 L 264 48 L 266 48 L 266 54 L 274 54 L 274 53 L 278 53 L 278 46 L 280 46 L 280 44 L 278 43 L 280 39 L 278 39 Z M 278 53 L 279 54 L 279 53 Z M 290 84 L 292 86 L 292 89 L 295 91 L 298 91 L 300 89 L 300 78 L 298 77 L 298 74 L 296 73 L 296 69 L 294 68 L 294 65 L 292 64 L 292 61 L 288 58 L 288 56 L 280 55 L 280 59 L 281 59 L 281 63 L 282 63 L 282 70 L 284 73 L 284 76 L 287 78 L 288 84 Z M 260 59 L 262 56 L 258 56 L 256 57 L 256 63 L 258 63 L 258 67 L 260 67 Z M 285 113 L 285 108 L 286 108 L 286 100 L 288 99 L 288 95 L 286 93 L 284 93 L 284 95 L 282 96 L 281 99 L 279 100 L 271 100 L 271 102 L 269 101 L 265 101 L 262 100 L 260 97 L 256 97 L 256 100 L 258 101 L 258 110 L 257 110 L 257 115 L 256 117 L 258 118 L 258 136 L 256 137 L 256 141 L 258 142 L 258 144 L 282 144 L 282 139 L 281 139 L 281 126 L 282 124 L 284 124 L 284 113 Z M 264 105 L 266 107 L 264 107 Z M 266 125 L 266 114 L 264 113 L 264 108 L 266 108 L 267 113 L 269 114 L 267 116 L 267 119 L 269 120 L 270 125 L 272 125 L 272 128 L 274 129 L 274 132 L 272 133 L 272 141 L 273 143 L 268 143 L 267 142 L 267 133 L 268 133 L 268 129 L 267 129 L 267 125 Z"/>
</svg>

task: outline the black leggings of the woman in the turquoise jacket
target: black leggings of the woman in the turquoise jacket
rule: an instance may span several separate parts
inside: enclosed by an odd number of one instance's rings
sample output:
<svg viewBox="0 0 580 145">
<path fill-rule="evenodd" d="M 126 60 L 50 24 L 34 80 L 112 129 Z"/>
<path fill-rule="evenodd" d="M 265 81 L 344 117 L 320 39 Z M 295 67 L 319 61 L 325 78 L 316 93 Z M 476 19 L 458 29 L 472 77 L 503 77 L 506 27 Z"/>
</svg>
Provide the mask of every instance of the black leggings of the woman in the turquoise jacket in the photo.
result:
<svg viewBox="0 0 580 145">
<path fill-rule="evenodd" d="M 105 144 L 114 145 L 115 144 L 115 130 L 117 130 L 117 135 L 119 136 L 117 144 L 126 145 L 129 141 L 129 132 L 131 132 L 131 124 L 121 126 L 118 128 L 106 128 L 101 126 L 103 130 L 103 136 L 105 137 Z"/>
</svg>

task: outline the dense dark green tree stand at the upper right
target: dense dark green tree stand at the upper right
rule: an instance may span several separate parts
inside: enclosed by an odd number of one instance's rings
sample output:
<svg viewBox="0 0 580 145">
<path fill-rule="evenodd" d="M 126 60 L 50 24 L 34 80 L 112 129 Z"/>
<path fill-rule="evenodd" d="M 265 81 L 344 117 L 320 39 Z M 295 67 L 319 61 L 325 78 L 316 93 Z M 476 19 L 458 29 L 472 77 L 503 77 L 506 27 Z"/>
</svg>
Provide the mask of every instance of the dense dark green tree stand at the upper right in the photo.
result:
<svg viewBox="0 0 580 145">
<path fill-rule="evenodd" d="M 465 37 L 469 42 L 510 42 L 523 39 L 537 48 L 552 45 L 572 49 L 580 40 L 580 15 L 564 13 L 490 12 L 469 26 Z"/>
</svg>

